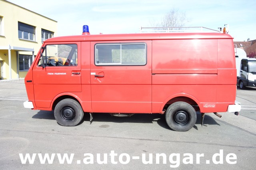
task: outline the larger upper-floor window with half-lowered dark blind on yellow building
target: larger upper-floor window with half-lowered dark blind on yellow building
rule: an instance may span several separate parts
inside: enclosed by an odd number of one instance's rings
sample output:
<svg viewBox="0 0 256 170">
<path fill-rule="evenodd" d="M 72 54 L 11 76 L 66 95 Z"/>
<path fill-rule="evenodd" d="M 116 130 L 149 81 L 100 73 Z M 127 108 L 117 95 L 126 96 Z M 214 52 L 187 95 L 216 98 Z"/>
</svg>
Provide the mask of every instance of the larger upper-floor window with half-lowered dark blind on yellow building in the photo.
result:
<svg viewBox="0 0 256 170">
<path fill-rule="evenodd" d="M 36 29 L 34 26 L 30 26 L 28 24 L 18 22 L 19 39 L 36 41 L 36 38 L 35 38 L 36 31 L 35 30 Z"/>
</svg>

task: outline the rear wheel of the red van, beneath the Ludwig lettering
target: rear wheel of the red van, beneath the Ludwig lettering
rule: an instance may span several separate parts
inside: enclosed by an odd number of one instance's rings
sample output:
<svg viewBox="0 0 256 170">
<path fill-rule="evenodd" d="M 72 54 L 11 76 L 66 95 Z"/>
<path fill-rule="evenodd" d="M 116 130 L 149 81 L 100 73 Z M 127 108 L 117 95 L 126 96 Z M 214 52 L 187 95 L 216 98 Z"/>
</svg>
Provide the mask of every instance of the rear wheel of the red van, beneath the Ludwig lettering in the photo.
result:
<svg viewBox="0 0 256 170">
<path fill-rule="evenodd" d="M 196 111 L 186 102 L 175 102 L 166 110 L 165 120 L 172 130 L 188 131 L 196 124 Z"/>
</svg>

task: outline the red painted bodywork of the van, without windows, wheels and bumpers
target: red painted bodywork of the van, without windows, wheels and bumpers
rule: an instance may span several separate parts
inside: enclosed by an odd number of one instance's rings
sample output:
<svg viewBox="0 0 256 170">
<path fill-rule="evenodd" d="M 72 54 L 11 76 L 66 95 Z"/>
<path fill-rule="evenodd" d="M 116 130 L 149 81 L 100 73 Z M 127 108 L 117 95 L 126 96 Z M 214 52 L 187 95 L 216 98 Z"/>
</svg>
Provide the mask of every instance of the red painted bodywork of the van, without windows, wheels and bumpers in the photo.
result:
<svg viewBox="0 0 256 170">
<path fill-rule="evenodd" d="M 77 66 L 42 68 L 38 53 L 30 67 L 25 83 L 34 109 L 51 110 L 62 96 L 77 99 L 85 112 L 104 113 L 162 113 L 177 100 L 198 105 L 202 113 L 226 112 L 235 102 L 236 66 L 228 34 L 82 35 L 50 38 L 43 46 L 67 43 L 78 45 Z M 97 66 L 97 43 L 145 43 L 146 65 Z"/>
</svg>

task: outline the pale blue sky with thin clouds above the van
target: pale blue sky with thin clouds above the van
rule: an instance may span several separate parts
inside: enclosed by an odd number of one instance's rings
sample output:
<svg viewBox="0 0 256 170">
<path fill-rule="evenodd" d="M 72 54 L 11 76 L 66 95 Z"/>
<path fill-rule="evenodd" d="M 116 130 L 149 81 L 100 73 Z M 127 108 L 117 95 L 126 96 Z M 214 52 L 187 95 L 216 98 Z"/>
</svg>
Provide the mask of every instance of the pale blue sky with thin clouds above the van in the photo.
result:
<svg viewBox="0 0 256 170">
<path fill-rule="evenodd" d="M 229 24 L 234 41 L 256 40 L 256 0 L 8 0 L 58 21 L 58 36 L 138 33 L 173 8 L 185 12 L 186 26 L 217 30 Z"/>
</svg>

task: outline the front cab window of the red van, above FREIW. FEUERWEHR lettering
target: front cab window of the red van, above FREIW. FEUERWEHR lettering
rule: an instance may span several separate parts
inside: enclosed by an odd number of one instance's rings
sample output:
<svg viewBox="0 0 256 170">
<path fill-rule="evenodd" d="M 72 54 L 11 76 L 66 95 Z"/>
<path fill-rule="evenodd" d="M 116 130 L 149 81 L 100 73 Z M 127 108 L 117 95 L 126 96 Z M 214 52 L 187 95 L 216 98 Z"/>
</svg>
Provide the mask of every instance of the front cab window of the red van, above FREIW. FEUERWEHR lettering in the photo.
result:
<svg viewBox="0 0 256 170">
<path fill-rule="evenodd" d="M 51 44 L 44 47 L 39 66 L 76 66 L 77 44 Z"/>
</svg>

